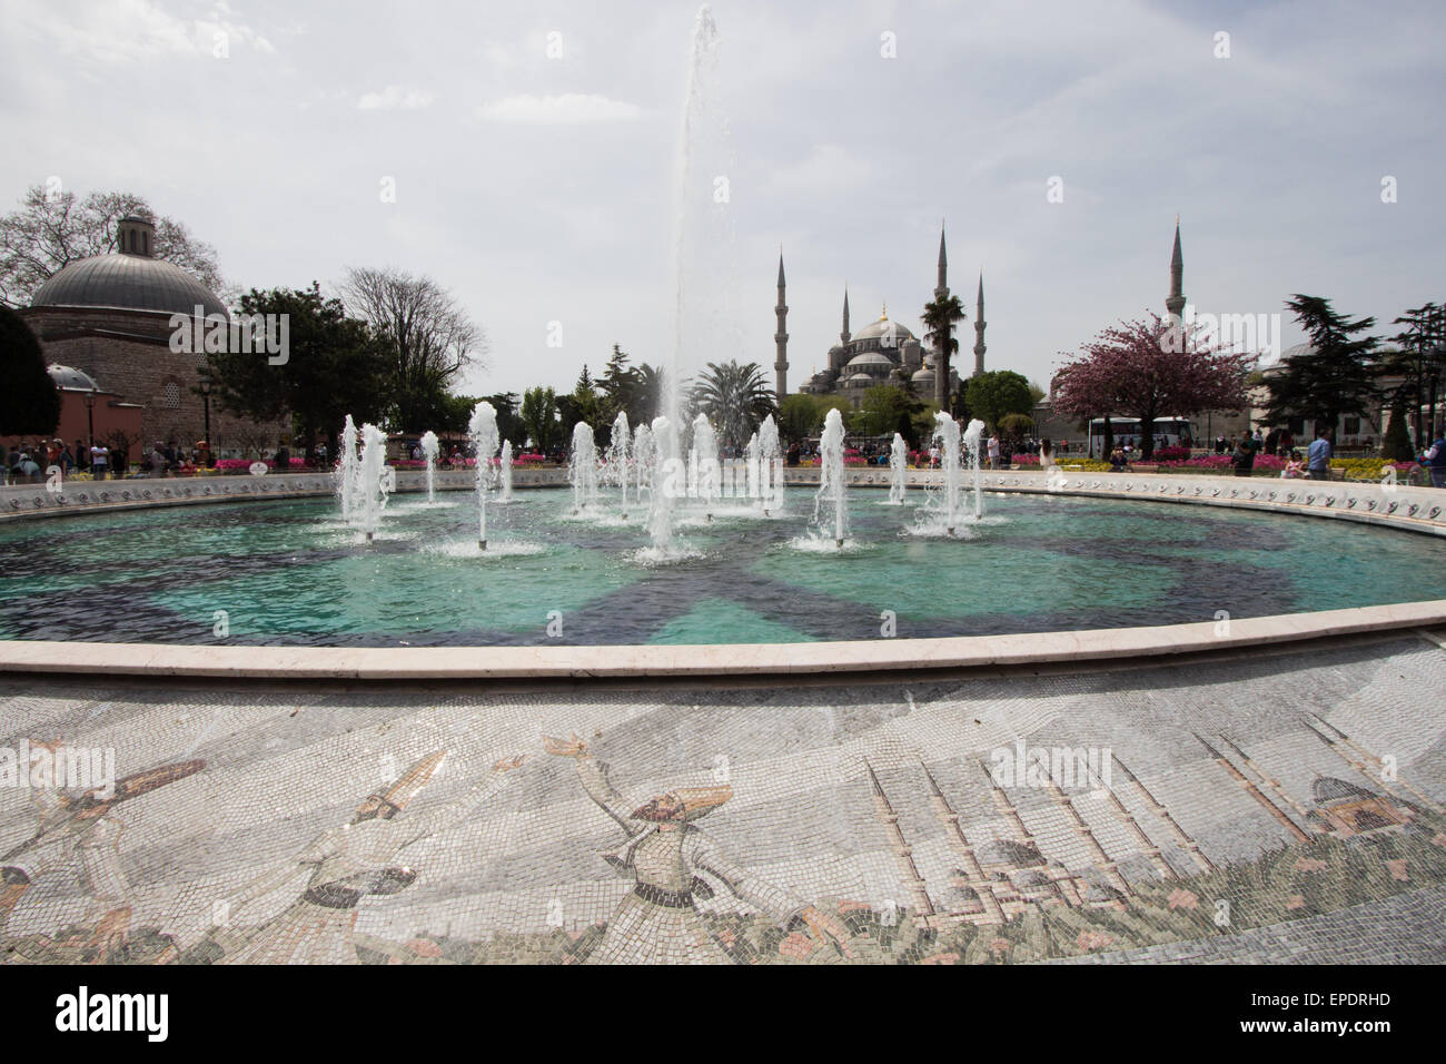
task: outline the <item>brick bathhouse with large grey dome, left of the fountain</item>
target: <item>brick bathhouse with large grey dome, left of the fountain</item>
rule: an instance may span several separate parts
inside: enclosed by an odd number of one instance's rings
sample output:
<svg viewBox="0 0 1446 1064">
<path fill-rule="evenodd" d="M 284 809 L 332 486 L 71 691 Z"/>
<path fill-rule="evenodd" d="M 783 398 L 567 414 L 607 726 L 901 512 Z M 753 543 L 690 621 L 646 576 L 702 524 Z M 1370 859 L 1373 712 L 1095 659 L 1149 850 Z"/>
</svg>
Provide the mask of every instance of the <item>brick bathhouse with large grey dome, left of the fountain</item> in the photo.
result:
<svg viewBox="0 0 1446 1064">
<path fill-rule="evenodd" d="M 172 350 L 175 320 L 178 314 L 194 318 L 200 313 L 228 323 L 230 314 L 201 281 L 155 258 L 156 227 L 149 220 L 121 219 L 116 239 L 116 252 L 78 259 L 56 271 L 35 291 L 30 305 L 20 308 L 20 317 L 39 339 L 46 360 L 95 385 L 101 405 L 121 404 L 140 411 L 134 443 L 191 446 L 207 428 L 207 400 L 198 394 L 204 355 Z M 90 391 L 90 385 L 74 382 L 59 387 Z M 94 417 L 100 417 L 98 407 Z M 62 431 L 67 427 L 74 428 L 74 418 L 62 415 Z M 114 427 L 132 434 L 129 426 Z M 210 428 L 213 449 L 224 452 L 275 446 L 291 427 L 256 424 L 218 410 L 213 401 Z M 98 424 L 95 431 L 101 436 Z"/>
</svg>

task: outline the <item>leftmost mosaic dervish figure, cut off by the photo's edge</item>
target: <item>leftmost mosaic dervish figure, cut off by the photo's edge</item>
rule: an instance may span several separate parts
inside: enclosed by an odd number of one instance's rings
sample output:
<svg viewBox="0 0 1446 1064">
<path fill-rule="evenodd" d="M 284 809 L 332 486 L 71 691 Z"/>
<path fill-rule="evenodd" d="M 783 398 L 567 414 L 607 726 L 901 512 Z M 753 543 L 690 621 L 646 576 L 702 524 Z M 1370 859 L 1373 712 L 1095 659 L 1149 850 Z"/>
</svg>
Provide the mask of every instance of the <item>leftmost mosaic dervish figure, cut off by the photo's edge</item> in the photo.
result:
<svg viewBox="0 0 1446 1064">
<path fill-rule="evenodd" d="M 45 743 L 35 746 L 55 748 Z M 130 883 L 120 867 L 119 850 L 126 825 L 114 815 L 114 808 L 204 767 L 205 761 L 191 760 L 147 769 L 117 780 L 110 798 L 101 798 L 95 788 L 80 796 L 55 789 L 32 790 L 39 819 L 35 835 L 0 856 L 0 937 L 10 912 L 40 876 L 71 869 L 85 895 L 81 924 L 93 928 L 88 941 L 75 945 L 84 960 L 106 960 L 126 941 L 130 929 Z M 56 945 L 45 937 L 39 944 Z"/>
</svg>

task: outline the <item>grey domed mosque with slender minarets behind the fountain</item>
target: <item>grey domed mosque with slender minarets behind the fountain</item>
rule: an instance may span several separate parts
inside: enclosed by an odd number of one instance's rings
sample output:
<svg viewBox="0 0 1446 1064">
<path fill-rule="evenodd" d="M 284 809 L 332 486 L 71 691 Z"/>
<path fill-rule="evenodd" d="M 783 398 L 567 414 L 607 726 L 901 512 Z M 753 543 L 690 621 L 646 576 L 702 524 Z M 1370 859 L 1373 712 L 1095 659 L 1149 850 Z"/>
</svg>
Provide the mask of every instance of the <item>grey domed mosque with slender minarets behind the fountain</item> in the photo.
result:
<svg viewBox="0 0 1446 1064">
<path fill-rule="evenodd" d="M 774 334 L 778 358 L 774 362 L 775 391 L 782 400 L 788 394 L 788 303 L 784 298 L 784 259 L 778 258 L 778 332 Z M 938 235 L 938 279 L 936 298 L 949 297 L 949 255 L 944 248 L 944 233 Z M 979 275 L 979 295 L 975 310 L 975 372 L 985 372 L 985 281 Z M 962 323 L 960 323 L 962 324 Z M 801 385 L 804 395 L 839 395 L 852 407 L 859 407 L 863 394 L 876 385 L 894 385 L 912 392 L 928 402 L 936 401 L 936 352 L 925 349 L 923 342 L 908 327 L 889 318 L 885 305 L 878 321 L 870 321 L 859 332 L 849 332 L 849 292 L 843 292 L 843 332 L 839 343 L 829 349 L 827 368 L 818 371 Z M 959 372 L 949 369 L 949 392 L 959 388 Z"/>
</svg>

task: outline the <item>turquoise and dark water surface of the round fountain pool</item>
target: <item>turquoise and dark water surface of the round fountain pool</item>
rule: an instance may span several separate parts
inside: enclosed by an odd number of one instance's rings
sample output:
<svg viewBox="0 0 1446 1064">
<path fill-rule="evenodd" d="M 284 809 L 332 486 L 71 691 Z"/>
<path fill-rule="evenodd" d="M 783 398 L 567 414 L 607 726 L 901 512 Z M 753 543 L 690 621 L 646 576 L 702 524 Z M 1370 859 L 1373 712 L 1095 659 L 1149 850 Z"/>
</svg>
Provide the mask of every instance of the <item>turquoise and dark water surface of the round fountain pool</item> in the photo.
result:
<svg viewBox="0 0 1446 1064">
<path fill-rule="evenodd" d="M 642 510 L 574 517 L 570 492 L 489 505 L 392 499 L 364 543 L 325 499 L 87 514 L 0 528 L 0 638 L 291 646 L 794 643 L 1126 628 L 1446 598 L 1446 543 L 1203 507 L 995 495 L 966 539 L 852 492 L 846 550 L 771 518 L 681 511 L 683 560 L 648 560 Z M 691 515 L 690 515 L 691 514 Z M 827 544 L 831 547 L 831 540 Z"/>
</svg>

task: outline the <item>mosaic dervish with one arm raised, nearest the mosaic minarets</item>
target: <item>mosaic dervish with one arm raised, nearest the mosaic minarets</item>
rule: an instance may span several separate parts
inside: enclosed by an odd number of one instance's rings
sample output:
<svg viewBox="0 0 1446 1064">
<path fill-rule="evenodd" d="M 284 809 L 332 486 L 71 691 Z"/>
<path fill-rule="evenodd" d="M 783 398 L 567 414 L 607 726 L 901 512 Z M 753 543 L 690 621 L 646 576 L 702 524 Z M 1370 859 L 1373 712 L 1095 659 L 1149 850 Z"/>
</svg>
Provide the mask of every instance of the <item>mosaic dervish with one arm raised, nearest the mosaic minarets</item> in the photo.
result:
<svg viewBox="0 0 1446 1064">
<path fill-rule="evenodd" d="M 808 902 L 755 876 L 723 856 L 694 822 L 733 796 L 730 786 L 674 788 L 630 808 L 577 735 L 544 737 L 549 754 L 571 757 L 577 777 L 597 805 L 623 829 L 626 841 L 603 854 L 613 870 L 632 880 L 628 893 L 589 954 L 589 964 L 710 964 L 733 957 L 709 934 L 694 906 L 714 896 L 720 883 L 735 898 L 766 913 L 781 928 L 803 922 L 824 944 L 852 960 L 849 932 Z"/>
</svg>

